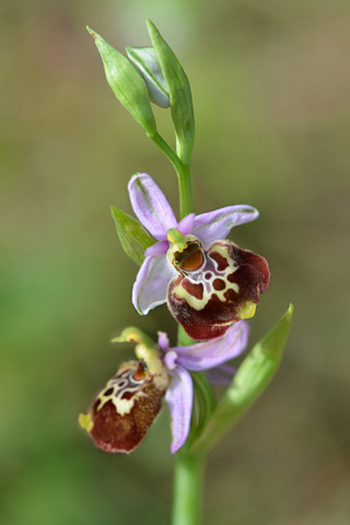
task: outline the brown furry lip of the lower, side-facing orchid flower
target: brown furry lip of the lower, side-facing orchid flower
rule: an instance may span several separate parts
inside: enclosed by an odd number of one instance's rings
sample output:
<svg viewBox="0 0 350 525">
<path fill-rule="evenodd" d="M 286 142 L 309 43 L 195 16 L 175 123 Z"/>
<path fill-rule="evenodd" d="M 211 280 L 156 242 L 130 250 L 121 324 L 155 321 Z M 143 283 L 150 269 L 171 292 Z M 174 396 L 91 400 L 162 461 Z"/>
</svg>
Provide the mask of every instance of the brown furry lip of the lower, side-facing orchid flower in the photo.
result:
<svg viewBox="0 0 350 525">
<path fill-rule="evenodd" d="M 154 358 L 155 359 L 155 358 Z M 80 424 L 104 452 L 133 451 L 161 410 L 167 376 L 152 374 L 143 361 L 124 363 L 98 394 Z"/>
</svg>

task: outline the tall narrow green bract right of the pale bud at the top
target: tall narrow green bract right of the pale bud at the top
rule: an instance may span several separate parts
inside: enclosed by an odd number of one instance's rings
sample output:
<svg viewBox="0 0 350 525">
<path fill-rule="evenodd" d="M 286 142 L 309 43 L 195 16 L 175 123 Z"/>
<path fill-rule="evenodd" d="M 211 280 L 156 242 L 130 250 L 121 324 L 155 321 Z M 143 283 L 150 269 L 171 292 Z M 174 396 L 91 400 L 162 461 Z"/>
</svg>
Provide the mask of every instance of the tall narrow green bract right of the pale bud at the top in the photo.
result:
<svg viewBox="0 0 350 525">
<path fill-rule="evenodd" d="M 150 20 L 145 22 L 168 88 L 177 154 L 184 164 L 190 165 L 195 140 L 195 116 L 189 82 L 182 65 L 155 25 Z"/>
</svg>

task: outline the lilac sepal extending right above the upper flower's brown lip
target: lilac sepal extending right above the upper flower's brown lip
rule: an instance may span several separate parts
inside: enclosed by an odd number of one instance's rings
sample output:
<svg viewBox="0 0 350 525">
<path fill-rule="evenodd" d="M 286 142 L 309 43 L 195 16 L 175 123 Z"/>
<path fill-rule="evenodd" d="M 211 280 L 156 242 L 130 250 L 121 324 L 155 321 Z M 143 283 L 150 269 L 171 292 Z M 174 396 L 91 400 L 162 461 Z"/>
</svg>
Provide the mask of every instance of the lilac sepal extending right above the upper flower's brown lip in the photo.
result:
<svg viewBox="0 0 350 525">
<path fill-rule="evenodd" d="M 218 238 L 226 238 L 233 226 L 254 221 L 258 215 L 258 210 L 252 206 L 228 206 L 197 215 L 190 233 L 209 244 Z"/>
</svg>

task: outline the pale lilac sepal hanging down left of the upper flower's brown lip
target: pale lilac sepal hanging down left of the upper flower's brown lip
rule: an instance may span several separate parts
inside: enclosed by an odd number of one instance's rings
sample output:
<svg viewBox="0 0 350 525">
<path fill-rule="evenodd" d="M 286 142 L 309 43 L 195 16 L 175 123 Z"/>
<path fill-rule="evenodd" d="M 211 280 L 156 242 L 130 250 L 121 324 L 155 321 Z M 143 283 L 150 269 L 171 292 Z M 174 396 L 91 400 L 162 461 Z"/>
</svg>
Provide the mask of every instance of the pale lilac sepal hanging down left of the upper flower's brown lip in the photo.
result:
<svg viewBox="0 0 350 525">
<path fill-rule="evenodd" d="M 166 301 L 168 281 L 176 275 L 166 257 L 145 257 L 132 288 L 132 304 L 145 315 Z"/>
</svg>

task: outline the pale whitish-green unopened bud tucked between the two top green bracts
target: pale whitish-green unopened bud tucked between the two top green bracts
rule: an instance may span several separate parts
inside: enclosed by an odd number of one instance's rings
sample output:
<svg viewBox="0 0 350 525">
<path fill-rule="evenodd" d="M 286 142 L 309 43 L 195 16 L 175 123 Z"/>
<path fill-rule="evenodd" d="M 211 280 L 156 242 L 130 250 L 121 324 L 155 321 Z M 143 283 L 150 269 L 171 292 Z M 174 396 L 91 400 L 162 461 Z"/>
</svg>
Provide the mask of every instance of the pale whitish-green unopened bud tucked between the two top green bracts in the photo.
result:
<svg viewBox="0 0 350 525">
<path fill-rule="evenodd" d="M 126 47 L 131 62 L 139 69 L 149 90 L 151 101 L 161 107 L 170 107 L 170 94 L 156 52 L 153 47 Z"/>
</svg>

